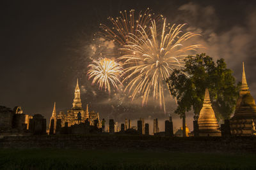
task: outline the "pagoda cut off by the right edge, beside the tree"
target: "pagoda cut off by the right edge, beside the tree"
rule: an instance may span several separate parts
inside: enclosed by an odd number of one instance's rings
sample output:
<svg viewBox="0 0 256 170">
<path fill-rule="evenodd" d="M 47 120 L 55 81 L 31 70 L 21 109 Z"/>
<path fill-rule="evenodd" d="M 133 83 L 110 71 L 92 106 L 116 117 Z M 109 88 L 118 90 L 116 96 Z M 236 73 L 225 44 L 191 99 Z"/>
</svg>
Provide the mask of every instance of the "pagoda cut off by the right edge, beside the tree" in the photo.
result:
<svg viewBox="0 0 256 170">
<path fill-rule="evenodd" d="M 252 136 L 254 134 L 253 124 L 255 120 L 256 105 L 247 85 L 243 62 L 241 90 L 237 99 L 236 111 L 230 119 L 231 134 L 236 136 Z"/>
</svg>

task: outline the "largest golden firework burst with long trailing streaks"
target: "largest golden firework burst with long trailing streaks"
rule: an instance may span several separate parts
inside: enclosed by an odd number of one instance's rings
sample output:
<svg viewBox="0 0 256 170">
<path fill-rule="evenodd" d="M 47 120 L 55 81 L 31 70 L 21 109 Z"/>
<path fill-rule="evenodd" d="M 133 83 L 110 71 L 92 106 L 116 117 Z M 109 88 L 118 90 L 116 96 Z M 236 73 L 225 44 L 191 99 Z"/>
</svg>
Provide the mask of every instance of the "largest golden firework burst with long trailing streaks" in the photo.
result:
<svg viewBox="0 0 256 170">
<path fill-rule="evenodd" d="M 136 96 L 142 97 L 142 105 L 148 101 L 152 94 L 159 99 L 160 106 L 164 107 L 164 84 L 174 68 L 184 65 L 183 59 L 188 52 L 201 48 L 202 45 L 187 45 L 188 39 L 198 36 L 193 32 L 182 32 L 186 24 L 163 25 L 152 20 L 150 31 L 138 26 L 136 34 L 130 33 L 127 41 L 120 50 L 122 56 L 118 60 L 124 62 L 124 81 L 127 81 L 125 91 L 131 94 L 132 100 Z M 159 29 L 160 28 L 160 29 Z M 159 30 L 160 31 L 159 31 Z M 121 34 L 121 33 L 120 33 Z"/>
</svg>

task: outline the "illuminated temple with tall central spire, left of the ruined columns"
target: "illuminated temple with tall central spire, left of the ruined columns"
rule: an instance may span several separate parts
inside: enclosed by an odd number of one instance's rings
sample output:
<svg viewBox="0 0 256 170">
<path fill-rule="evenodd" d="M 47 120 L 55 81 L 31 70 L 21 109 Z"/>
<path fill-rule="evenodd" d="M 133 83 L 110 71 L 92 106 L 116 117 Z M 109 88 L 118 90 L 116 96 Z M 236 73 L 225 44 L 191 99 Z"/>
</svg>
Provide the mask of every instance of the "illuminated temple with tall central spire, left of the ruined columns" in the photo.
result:
<svg viewBox="0 0 256 170">
<path fill-rule="evenodd" d="M 94 111 L 91 111 L 89 113 L 88 104 L 86 106 L 86 110 L 83 110 L 78 79 L 76 83 L 76 89 L 75 89 L 72 108 L 70 110 L 67 110 L 67 113 L 60 111 L 60 113 L 58 113 L 57 115 L 56 103 L 54 103 L 52 117 L 50 119 L 50 124 L 49 124 L 49 127 L 51 127 L 51 121 L 54 120 L 54 133 L 56 132 L 56 122 L 58 119 L 61 120 L 61 127 L 65 127 L 65 124 L 68 124 L 68 127 L 70 127 L 71 125 L 80 124 L 80 123 L 86 122 L 87 119 L 88 119 L 88 122 L 90 122 L 90 125 L 93 125 L 94 120 L 99 120 L 100 122 L 99 113 L 95 113 Z"/>
</svg>

